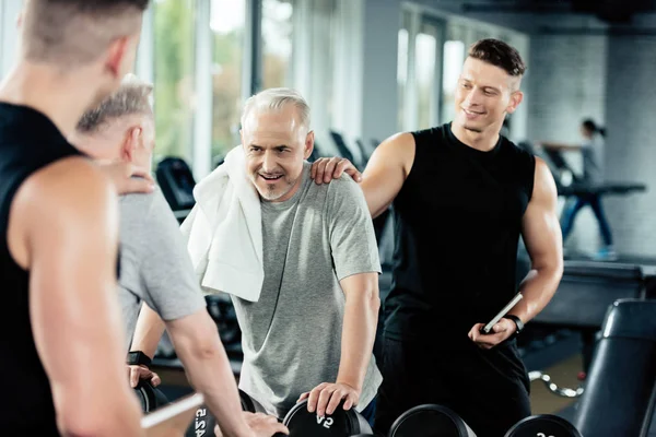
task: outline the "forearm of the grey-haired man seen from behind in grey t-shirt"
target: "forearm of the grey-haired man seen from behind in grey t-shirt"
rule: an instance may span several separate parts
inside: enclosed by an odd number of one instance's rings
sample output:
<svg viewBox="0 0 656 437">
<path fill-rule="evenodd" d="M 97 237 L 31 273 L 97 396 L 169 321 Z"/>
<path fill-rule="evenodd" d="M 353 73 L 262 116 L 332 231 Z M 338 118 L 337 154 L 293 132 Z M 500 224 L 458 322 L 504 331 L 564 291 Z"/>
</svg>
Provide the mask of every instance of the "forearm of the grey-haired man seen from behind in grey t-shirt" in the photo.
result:
<svg viewBox="0 0 656 437">
<path fill-rule="evenodd" d="M 207 314 L 206 314 L 207 315 Z M 207 318 L 210 319 L 209 315 Z M 197 336 L 178 335 L 169 329 L 173 344 L 183 362 L 189 382 L 202 393 L 225 437 L 251 436 L 242 414 L 234 375 L 215 326 Z"/>
</svg>

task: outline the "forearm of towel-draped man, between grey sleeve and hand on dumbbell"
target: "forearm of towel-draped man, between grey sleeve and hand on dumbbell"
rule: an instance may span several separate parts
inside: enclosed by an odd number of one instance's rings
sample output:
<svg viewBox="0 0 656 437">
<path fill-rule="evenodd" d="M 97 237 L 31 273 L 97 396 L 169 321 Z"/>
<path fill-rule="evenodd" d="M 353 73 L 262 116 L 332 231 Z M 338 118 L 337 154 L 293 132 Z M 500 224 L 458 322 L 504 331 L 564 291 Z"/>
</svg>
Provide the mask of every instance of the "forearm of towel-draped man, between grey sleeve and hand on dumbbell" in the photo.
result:
<svg viewBox="0 0 656 437">
<path fill-rule="evenodd" d="M 337 382 L 347 383 L 358 391 L 362 391 L 372 357 L 379 306 L 377 290 L 347 297 Z"/>
</svg>

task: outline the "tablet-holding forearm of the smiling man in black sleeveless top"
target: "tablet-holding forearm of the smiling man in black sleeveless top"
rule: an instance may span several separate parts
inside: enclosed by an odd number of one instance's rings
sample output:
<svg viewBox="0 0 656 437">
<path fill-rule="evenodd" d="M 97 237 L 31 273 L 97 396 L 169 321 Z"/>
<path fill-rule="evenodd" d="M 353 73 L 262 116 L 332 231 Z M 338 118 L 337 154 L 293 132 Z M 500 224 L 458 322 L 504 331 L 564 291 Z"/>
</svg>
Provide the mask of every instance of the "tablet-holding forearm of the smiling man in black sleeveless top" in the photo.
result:
<svg viewBox="0 0 656 437">
<path fill-rule="evenodd" d="M 531 320 L 549 304 L 561 277 L 562 262 L 532 269 L 519 285 L 524 298 L 509 312 L 525 323 Z"/>
</svg>

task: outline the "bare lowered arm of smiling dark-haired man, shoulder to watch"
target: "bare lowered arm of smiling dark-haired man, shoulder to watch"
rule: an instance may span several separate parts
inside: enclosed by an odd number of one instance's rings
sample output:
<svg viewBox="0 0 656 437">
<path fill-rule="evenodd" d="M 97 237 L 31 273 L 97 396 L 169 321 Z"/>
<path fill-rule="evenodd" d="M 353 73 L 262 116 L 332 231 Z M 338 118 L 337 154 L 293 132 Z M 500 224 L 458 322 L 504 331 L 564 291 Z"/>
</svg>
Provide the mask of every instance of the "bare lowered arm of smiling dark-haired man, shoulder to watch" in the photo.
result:
<svg viewBox="0 0 656 437">
<path fill-rule="evenodd" d="M 524 299 L 511 314 L 526 323 L 549 304 L 563 274 L 555 184 L 540 158 L 536 158 L 534 193 L 522 221 L 522 236 L 532 268 L 519 286 Z"/>
</svg>

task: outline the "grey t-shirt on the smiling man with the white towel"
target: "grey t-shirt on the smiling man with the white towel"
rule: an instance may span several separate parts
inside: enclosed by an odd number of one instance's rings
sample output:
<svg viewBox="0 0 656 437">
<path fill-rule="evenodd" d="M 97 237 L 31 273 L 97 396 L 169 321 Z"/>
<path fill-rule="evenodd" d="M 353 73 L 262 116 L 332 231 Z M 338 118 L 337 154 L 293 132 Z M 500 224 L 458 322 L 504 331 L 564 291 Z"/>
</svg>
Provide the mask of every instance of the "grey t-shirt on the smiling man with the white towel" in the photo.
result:
<svg viewBox="0 0 656 437">
<path fill-rule="evenodd" d="M 380 272 L 371 215 L 349 177 L 303 182 L 284 202 L 261 202 L 265 281 L 257 303 L 233 297 L 244 364 L 239 388 L 284 417 L 301 393 L 335 382 L 341 356 L 344 294 L 339 281 Z M 382 377 L 372 356 L 358 410 Z"/>
</svg>

